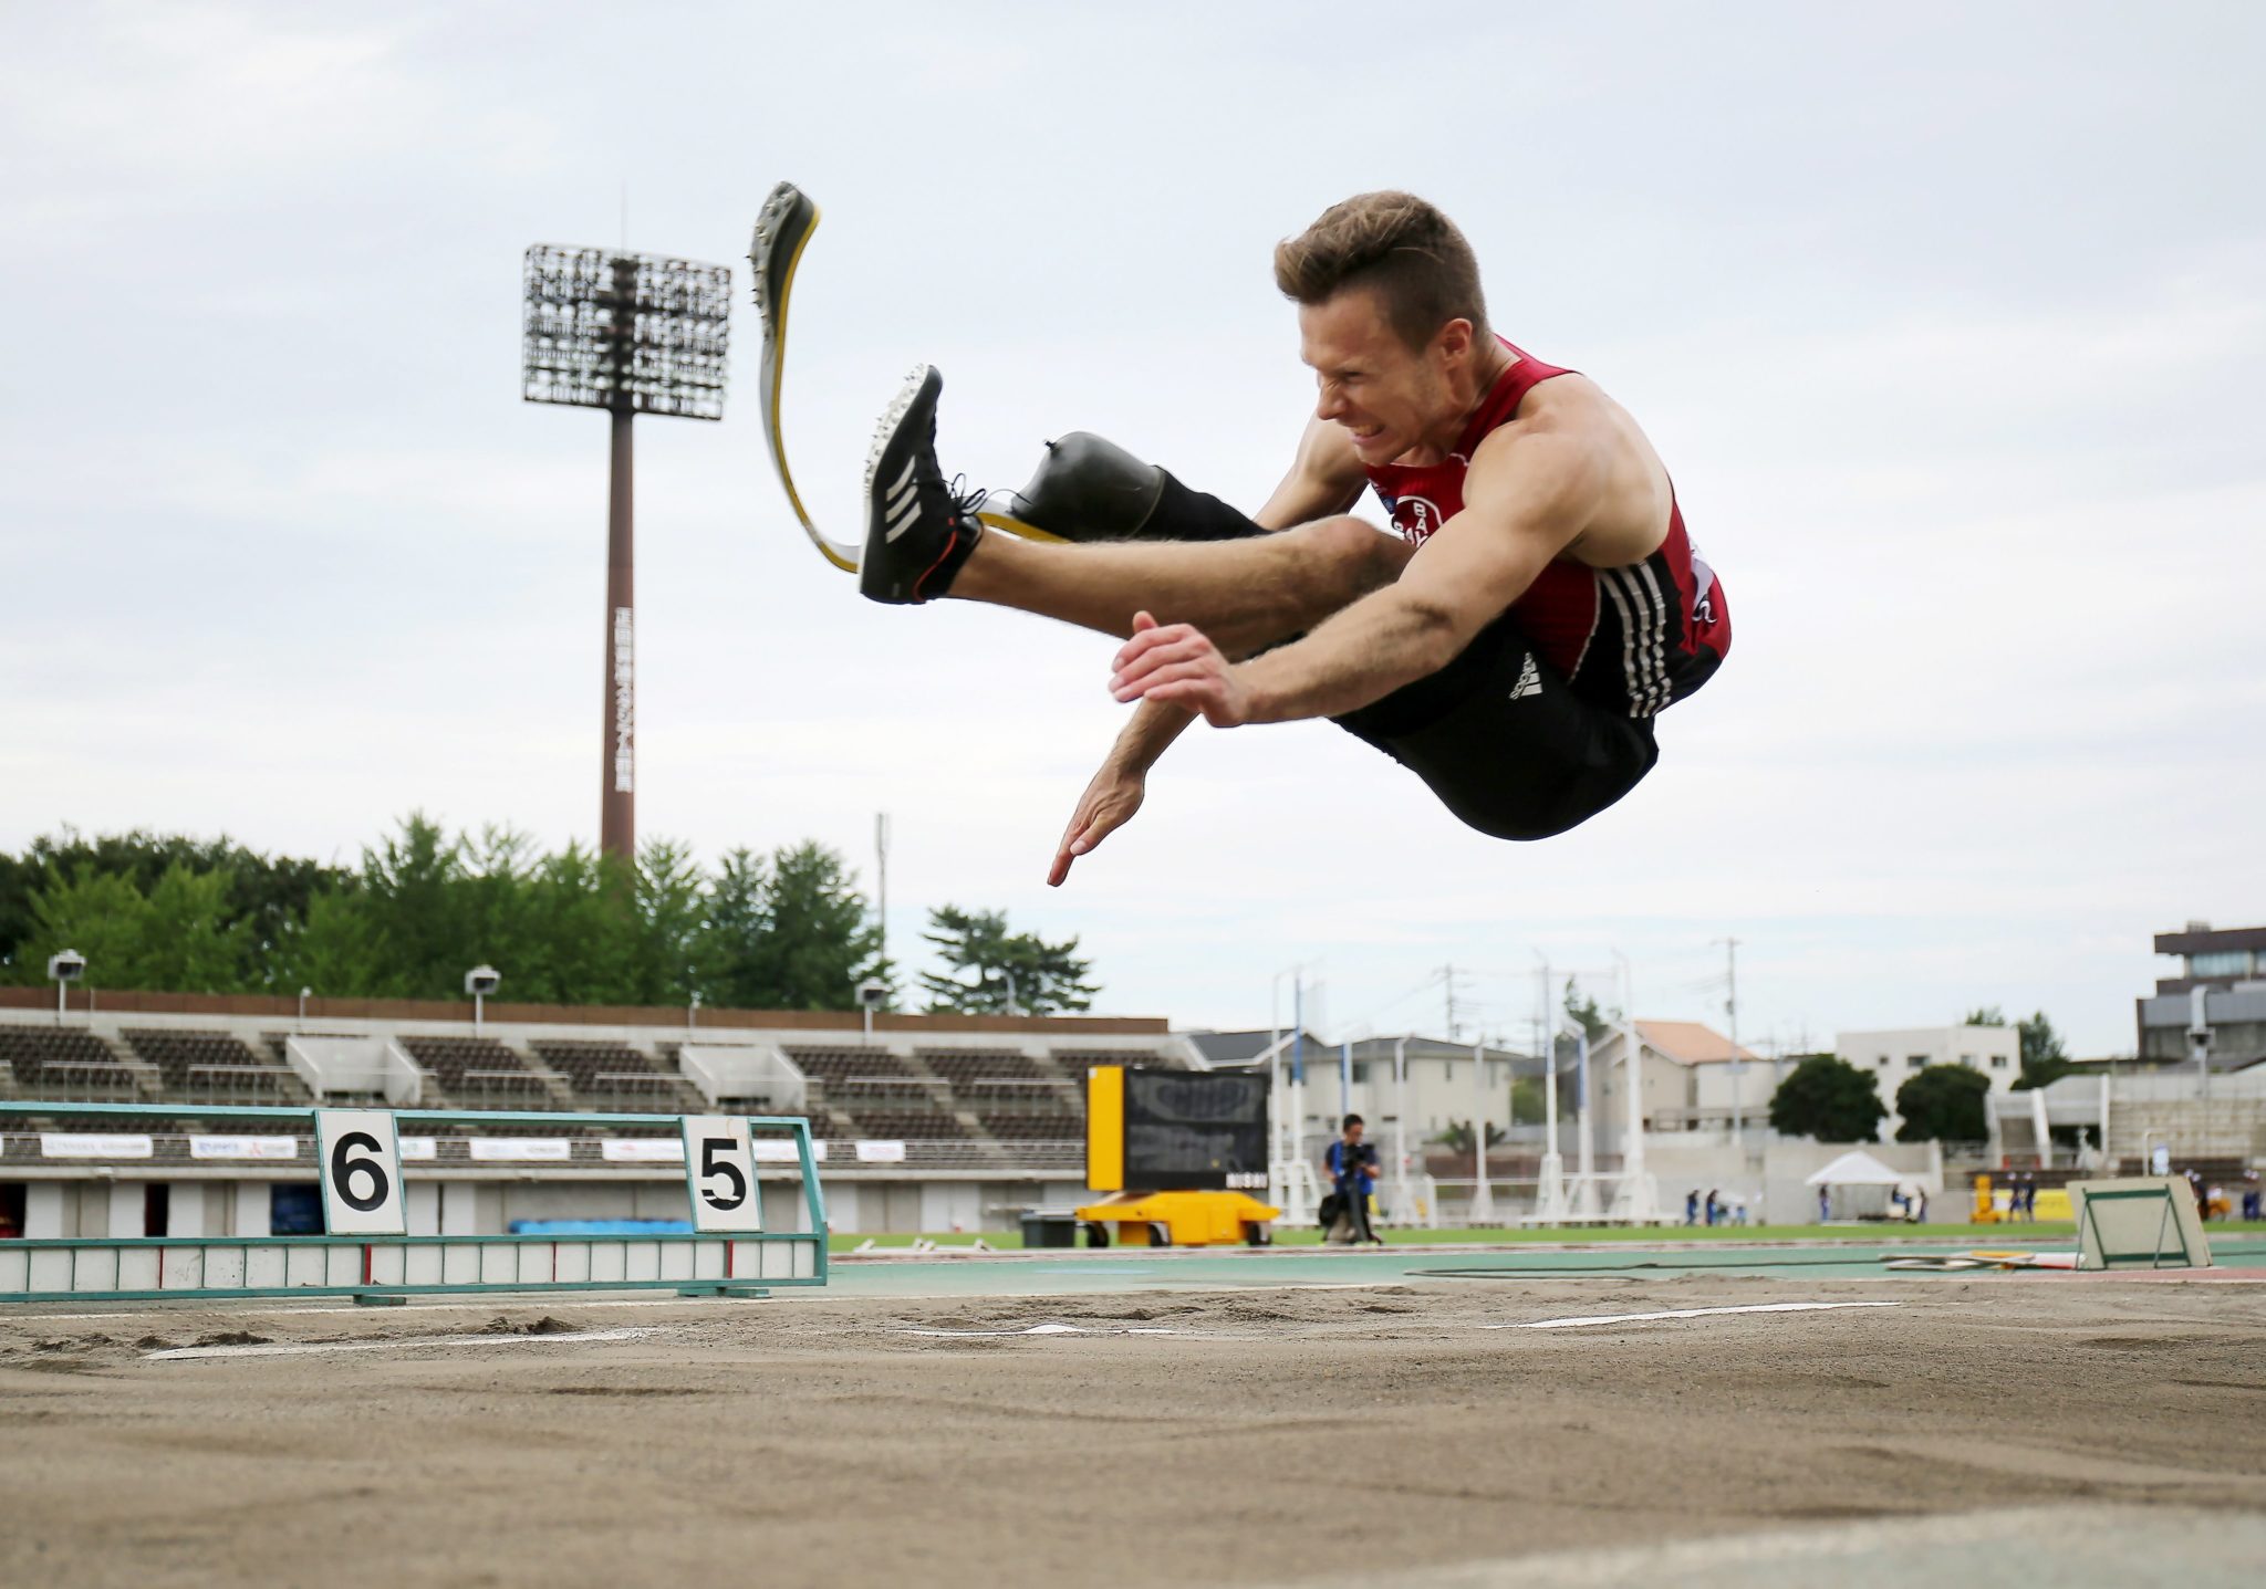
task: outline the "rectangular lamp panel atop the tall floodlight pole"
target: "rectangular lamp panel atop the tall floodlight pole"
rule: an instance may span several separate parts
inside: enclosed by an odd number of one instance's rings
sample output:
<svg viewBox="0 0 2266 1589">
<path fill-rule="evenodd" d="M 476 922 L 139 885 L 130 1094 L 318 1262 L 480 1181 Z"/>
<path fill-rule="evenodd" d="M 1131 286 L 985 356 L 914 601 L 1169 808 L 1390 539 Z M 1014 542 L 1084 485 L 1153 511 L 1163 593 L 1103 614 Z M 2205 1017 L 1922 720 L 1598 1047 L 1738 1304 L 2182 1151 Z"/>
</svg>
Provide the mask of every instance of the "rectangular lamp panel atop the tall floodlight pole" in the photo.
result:
<svg viewBox="0 0 2266 1589">
<path fill-rule="evenodd" d="M 528 403 L 723 419 L 730 265 L 537 242 L 523 278 Z"/>
</svg>

